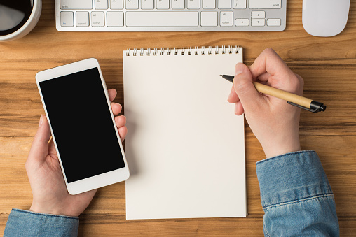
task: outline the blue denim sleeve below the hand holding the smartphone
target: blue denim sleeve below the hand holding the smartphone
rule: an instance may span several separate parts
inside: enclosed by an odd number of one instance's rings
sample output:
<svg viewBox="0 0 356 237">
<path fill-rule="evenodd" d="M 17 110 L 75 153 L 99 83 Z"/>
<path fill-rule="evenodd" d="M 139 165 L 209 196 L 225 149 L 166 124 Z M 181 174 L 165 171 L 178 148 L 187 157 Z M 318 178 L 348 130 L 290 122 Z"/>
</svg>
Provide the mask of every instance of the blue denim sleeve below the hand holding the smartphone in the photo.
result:
<svg viewBox="0 0 356 237">
<path fill-rule="evenodd" d="M 4 237 L 77 236 L 78 227 L 78 217 L 33 213 L 13 208 L 8 216 Z"/>
</svg>

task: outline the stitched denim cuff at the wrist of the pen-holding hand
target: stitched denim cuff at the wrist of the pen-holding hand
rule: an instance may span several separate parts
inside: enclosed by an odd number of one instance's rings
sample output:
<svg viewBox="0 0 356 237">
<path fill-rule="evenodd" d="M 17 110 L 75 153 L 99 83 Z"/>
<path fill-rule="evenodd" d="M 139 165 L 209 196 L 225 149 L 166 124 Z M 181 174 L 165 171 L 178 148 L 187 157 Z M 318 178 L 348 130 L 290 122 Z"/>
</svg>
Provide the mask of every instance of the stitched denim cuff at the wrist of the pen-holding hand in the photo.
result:
<svg viewBox="0 0 356 237">
<path fill-rule="evenodd" d="M 256 162 L 263 209 L 308 199 L 332 196 L 327 175 L 315 151 L 291 152 Z"/>
</svg>

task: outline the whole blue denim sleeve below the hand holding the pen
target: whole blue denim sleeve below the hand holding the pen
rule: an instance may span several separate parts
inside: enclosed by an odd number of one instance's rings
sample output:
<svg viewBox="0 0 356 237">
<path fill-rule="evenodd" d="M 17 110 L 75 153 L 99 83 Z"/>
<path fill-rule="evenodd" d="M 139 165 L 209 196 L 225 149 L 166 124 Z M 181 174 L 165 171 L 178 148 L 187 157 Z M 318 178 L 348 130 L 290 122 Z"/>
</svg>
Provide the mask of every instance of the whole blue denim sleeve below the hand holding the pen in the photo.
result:
<svg viewBox="0 0 356 237">
<path fill-rule="evenodd" d="M 334 194 L 316 152 L 256 163 L 265 236 L 339 236 Z"/>
</svg>

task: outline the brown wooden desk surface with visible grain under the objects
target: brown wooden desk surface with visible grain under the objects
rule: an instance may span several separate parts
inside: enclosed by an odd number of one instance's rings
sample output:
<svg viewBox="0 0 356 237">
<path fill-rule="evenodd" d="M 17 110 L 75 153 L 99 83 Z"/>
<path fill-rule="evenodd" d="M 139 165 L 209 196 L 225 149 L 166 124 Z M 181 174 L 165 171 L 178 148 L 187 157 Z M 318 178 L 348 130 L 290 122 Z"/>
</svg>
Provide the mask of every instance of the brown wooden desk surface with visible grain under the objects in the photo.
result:
<svg viewBox="0 0 356 237">
<path fill-rule="evenodd" d="M 335 194 L 341 236 L 356 233 L 356 2 L 338 36 L 304 31 L 302 1 L 287 5 L 282 32 L 69 33 L 55 29 L 54 1 L 43 0 L 36 28 L 17 41 L 0 43 L 0 233 L 11 208 L 29 209 L 32 192 L 25 161 L 44 113 L 36 72 L 88 57 L 100 62 L 108 88 L 123 103 L 123 57 L 127 48 L 241 45 L 252 64 L 271 47 L 304 78 L 304 95 L 327 105 L 325 113 L 301 113 L 301 146 L 316 150 Z M 226 94 L 227 98 L 228 94 Z M 263 210 L 255 162 L 263 150 L 246 124 L 248 217 L 125 220 L 125 183 L 100 189 L 81 215 L 79 236 L 263 236 Z M 130 132 L 130 131 L 129 131 Z"/>
</svg>

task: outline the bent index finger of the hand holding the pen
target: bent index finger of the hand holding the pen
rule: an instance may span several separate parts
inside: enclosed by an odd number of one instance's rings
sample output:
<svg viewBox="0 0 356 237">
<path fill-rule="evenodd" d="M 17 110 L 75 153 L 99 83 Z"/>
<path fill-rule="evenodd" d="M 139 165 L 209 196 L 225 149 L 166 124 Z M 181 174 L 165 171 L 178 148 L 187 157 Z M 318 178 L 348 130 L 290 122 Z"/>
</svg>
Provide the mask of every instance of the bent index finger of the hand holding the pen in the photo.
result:
<svg viewBox="0 0 356 237">
<path fill-rule="evenodd" d="M 263 73 L 271 75 L 290 73 L 291 70 L 280 58 L 280 56 L 271 48 L 267 48 L 261 52 L 261 55 L 254 60 L 254 63 L 249 66 L 252 77 L 257 78 Z"/>
</svg>

